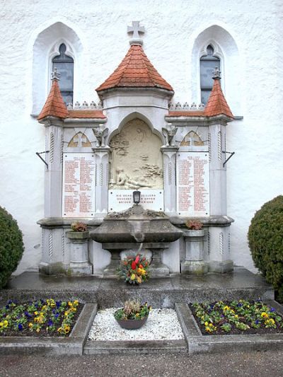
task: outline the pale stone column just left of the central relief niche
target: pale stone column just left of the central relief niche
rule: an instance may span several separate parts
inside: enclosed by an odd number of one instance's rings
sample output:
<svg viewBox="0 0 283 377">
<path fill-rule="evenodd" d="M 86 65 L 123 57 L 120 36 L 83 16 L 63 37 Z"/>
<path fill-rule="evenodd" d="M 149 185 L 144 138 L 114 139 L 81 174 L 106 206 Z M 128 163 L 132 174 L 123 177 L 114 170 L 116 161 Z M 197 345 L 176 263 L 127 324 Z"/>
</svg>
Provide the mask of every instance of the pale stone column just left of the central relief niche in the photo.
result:
<svg viewBox="0 0 283 377">
<path fill-rule="evenodd" d="M 109 146 L 96 146 L 96 216 L 108 213 Z"/>
</svg>

